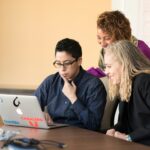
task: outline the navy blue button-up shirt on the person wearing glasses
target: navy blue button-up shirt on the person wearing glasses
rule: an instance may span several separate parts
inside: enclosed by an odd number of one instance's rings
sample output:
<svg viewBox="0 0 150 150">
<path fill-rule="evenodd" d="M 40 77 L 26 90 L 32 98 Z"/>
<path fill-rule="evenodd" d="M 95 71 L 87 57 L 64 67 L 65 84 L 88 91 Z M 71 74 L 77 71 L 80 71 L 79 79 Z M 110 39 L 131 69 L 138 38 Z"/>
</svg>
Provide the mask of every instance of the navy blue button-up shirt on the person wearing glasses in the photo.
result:
<svg viewBox="0 0 150 150">
<path fill-rule="evenodd" d="M 42 110 L 47 106 L 54 122 L 99 130 L 106 104 L 103 83 L 82 67 L 74 83 L 77 86 L 77 101 L 71 104 L 62 93 L 64 81 L 59 73 L 48 76 L 35 92 Z"/>
</svg>

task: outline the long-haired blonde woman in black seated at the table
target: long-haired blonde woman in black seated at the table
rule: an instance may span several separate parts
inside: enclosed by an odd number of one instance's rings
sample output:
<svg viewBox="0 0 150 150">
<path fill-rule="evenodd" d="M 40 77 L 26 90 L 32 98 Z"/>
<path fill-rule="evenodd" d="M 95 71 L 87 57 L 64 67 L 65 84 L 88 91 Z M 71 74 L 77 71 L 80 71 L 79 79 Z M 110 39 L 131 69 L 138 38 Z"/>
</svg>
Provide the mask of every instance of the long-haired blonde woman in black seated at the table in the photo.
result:
<svg viewBox="0 0 150 150">
<path fill-rule="evenodd" d="M 109 96 L 120 98 L 119 121 L 106 134 L 150 145 L 150 61 L 122 40 L 104 51 Z"/>
</svg>

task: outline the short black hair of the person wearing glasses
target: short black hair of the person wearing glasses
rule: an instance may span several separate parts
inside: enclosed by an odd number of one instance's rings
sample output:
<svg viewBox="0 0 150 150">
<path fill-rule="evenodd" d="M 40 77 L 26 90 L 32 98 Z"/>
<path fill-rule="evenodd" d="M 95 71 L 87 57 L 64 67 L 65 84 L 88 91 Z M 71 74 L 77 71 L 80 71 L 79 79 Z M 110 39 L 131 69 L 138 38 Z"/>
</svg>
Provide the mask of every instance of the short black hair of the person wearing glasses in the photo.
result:
<svg viewBox="0 0 150 150">
<path fill-rule="evenodd" d="M 73 39 L 65 38 L 65 39 L 58 41 L 56 48 L 55 48 L 55 55 L 56 55 L 56 52 L 62 52 L 62 51 L 65 51 L 71 54 L 72 57 L 74 57 L 75 59 L 78 59 L 79 57 L 82 56 L 82 48 L 79 42 Z"/>
</svg>

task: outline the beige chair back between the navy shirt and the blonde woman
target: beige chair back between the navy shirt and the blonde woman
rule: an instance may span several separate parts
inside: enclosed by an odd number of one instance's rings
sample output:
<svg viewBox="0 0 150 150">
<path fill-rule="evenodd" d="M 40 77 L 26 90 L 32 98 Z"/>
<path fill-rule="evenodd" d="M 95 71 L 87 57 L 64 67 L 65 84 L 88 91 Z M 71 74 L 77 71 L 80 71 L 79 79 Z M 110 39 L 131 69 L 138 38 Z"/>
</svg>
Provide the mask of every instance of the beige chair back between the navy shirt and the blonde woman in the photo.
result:
<svg viewBox="0 0 150 150">
<path fill-rule="evenodd" d="M 100 80 L 103 82 L 106 88 L 106 91 L 108 91 L 108 78 L 103 77 L 103 78 L 100 78 Z M 101 121 L 100 132 L 105 133 L 107 129 L 110 129 L 114 125 L 114 117 L 115 117 L 115 112 L 118 106 L 118 102 L 119 102 L 118 99 L 110 101 L 108 94 L 107 94 L 107 101 L 106 101 L 103 118 Z"/>
</svg>

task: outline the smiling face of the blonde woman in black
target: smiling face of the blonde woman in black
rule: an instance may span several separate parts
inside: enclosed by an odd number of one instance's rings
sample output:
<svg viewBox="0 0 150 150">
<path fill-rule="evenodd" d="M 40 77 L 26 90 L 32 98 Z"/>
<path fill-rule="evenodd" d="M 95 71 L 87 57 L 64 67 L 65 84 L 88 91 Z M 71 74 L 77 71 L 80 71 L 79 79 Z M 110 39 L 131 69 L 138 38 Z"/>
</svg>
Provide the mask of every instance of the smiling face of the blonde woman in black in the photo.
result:
<svg viewBox="0 0 150 150">
<path fill-rule="evenodd" d="M 112 84 L 120 84 L 121 74 L 122 74 L 122 65 L 117 61 L 116 57 L 109 52 L 104 54 L 104 63 L 105 63 L 105 73 L 108 76 Z"/>
</svg>

